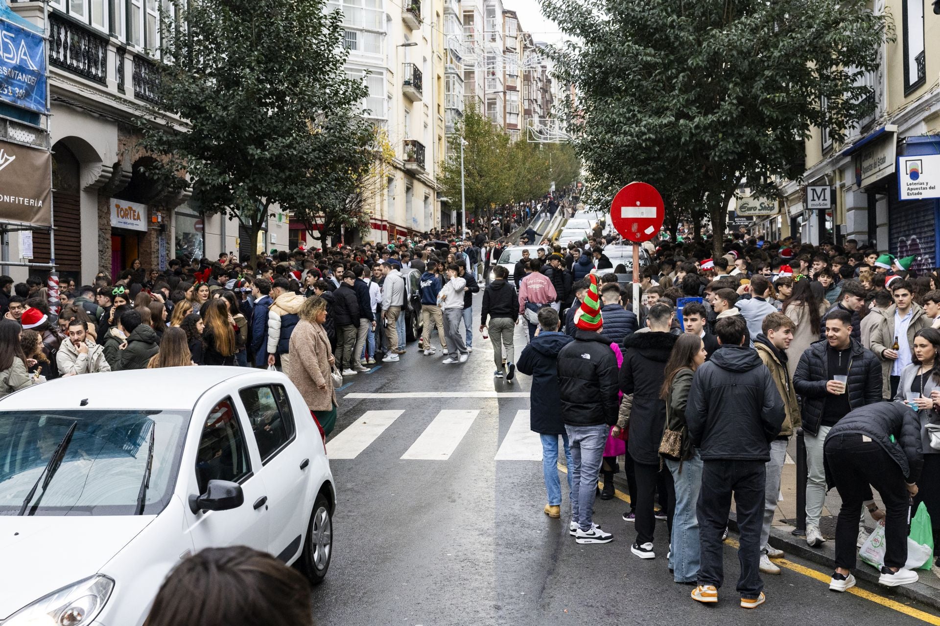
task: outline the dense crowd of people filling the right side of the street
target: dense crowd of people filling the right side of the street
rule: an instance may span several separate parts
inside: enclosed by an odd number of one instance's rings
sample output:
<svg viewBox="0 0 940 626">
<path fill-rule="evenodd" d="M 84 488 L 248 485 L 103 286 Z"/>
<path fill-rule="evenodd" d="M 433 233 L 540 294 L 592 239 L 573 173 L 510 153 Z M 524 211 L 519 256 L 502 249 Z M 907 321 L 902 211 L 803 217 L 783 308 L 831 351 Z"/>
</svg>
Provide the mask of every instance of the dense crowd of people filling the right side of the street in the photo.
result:
<svg viewBox="0 0 940 626">
<path fill-rule="evenodd" d="M 922 472 L 940 469 L 940 275 L 918 275 L 914 257 L 897 259 L 851 239 L 812 246 L 735 235 L 721 257 L 713 257 L 712 241 L 662 241 L 648 244 L 653 262 L 640 269 L 634 303 L 629 284 L 619 283 L 623 268 L 602 271 L 611 268 L 604 265 L 607 243 L 610 237 L 596 235 L 567 250 L 556 245 L 544 266 L 522 262 L 518 296 L 498 275 L 485 295 L 508 289 L 505 299 L 518 297 L 518 313 L 536 327 L 516 367 L 532 376 L 545 513 L 561 515 L 556 462 L 563 449 L 572 536 L 612 541 L 611 529 L 593 522 L 593 506 L 596 496 L 613 497 L 622 456 L 632 553 L 656 557 L 655 524 L 665 519 L 675 581 L 694 585 L 698 602 L 713 603 L 733 496 L 741 530 L 737 590 L 742 606 L 753 608 L 764 602 L 760 573 L 780 573 L 772 559 L 783 553 L 768 540 L 787 444 L 802 427 L 809 546 L 826 541 L 827 489 L 834 485 L 842 499 L 830 588 L 855 584 L 865 509 L 884 520 L 890 546 L 880 581 L 917 581 L 904 567 L 909 498 L 931 513 L 940 549 L 940 489 L 917 483 Z M 586 257 L 587 275 L 579 278 Z M 536 284 L 538 295 L 524 296 Z M 490 334 L 498 367 L 506 345 L 496 345 L 493 322 Z"/>
</svg>

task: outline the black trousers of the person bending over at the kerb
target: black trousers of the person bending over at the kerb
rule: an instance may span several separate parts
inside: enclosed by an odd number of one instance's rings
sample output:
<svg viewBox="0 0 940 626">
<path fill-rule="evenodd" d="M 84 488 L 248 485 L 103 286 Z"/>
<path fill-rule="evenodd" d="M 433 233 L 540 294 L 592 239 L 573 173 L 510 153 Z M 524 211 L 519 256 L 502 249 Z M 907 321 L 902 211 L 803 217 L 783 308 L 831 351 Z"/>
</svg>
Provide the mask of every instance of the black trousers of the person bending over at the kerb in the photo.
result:
<svg viewBox="0 0 940 626">
<path fill-rule="evenodd" d="M 842 498 L 836 522 L 836 567 L 855 567 L 858 522 L 862 502 L 871 499 L 871 487 L 885 503 L 885 565 L 904 567 L 908 507 L 901 466 L 876 441 L 863 441 L 855 433 L 827 437 L 823 450 Z"/>
</svg>

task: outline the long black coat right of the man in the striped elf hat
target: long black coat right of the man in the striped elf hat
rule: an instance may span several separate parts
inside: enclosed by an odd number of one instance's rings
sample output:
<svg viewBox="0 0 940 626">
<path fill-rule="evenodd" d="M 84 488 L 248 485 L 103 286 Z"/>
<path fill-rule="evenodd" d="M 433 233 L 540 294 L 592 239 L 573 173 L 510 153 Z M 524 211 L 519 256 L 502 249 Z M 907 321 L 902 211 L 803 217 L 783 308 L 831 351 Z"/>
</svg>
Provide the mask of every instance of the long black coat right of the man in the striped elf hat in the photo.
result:
<svg viewBox="0 0 940 626">
<path fill-rule="evenodd" d="M 627 446 L 635 463 L 659 464 L 659 444 L 666 427 L 666 402 L 660 399 L 659 390 L 665 380 L 663 369 L 677 339 L 668 332 L 635 332 L 623 340 L 620 390 L 623 395 L 634 394 Z"/>
</svg>

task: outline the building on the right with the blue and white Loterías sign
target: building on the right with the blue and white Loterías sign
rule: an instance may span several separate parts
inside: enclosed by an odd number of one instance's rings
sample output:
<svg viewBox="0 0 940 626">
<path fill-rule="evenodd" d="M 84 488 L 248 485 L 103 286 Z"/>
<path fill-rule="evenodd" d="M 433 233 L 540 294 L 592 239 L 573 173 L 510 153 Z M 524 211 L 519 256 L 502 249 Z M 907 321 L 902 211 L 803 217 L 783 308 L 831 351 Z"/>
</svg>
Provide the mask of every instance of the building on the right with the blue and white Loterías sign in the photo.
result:
<svg viewBox="0 0 940 626">
<path fill-rule="evenodd" d="M 784 184 L 784 212 L 763 221 L 813 244 L 854 238 L 914 254 L 918 270 L 932 268 L 940 259 L 940 185 L 913 199 L 901 189 L 912 179 L 940 181 L 928 171 L 928 163 L 940 165 L 932 158 L 940 153 L 940 15 L 928 0 L 875 0 L 874 9 L 892 16 L 896 39 L 862 79 L 874 89 L 873 114 L 840 145 L 813 129 L 803 183 Z"/>
</svg>

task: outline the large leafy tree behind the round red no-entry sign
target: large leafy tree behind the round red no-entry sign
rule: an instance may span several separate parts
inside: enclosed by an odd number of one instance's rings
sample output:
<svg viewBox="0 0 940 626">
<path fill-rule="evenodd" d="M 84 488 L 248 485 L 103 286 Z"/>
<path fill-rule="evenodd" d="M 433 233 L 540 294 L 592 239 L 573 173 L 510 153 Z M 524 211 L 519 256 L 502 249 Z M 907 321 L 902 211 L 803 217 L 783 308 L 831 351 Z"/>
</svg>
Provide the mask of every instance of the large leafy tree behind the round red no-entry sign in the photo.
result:
<svg viewBox="0 0 940 626">
<path fill-rule="evenodd" d="M 811 127 L 836 141 L 868 115 L 865 72 L 890 35 L 864 0 L 541 0 L 577 40 L 551 51 L 575 149 L 595 195 L 645 180 L 667 206 L 702 204 L 722 250 L 727 207 L 746 181 L 804 170 Z M 825 102 L 825 106 L 820 106 Z"/>
</svg>

